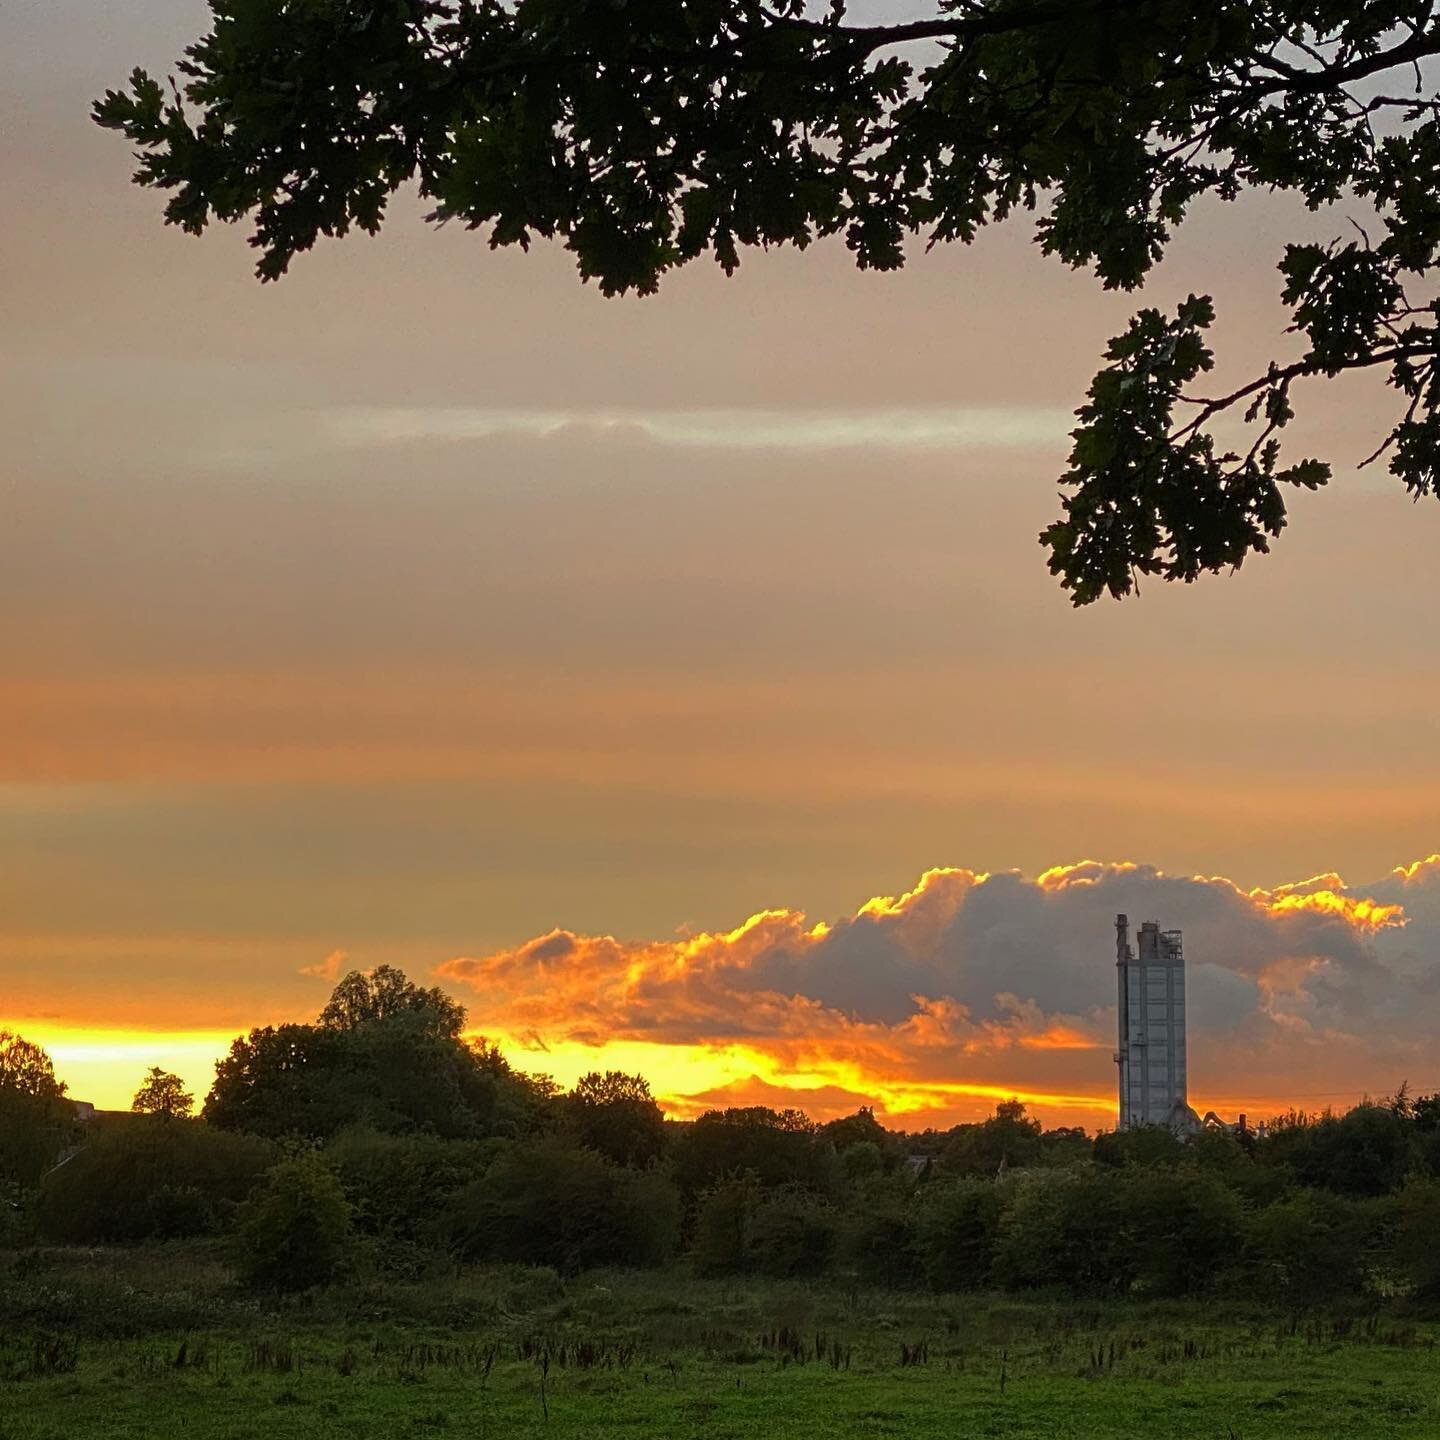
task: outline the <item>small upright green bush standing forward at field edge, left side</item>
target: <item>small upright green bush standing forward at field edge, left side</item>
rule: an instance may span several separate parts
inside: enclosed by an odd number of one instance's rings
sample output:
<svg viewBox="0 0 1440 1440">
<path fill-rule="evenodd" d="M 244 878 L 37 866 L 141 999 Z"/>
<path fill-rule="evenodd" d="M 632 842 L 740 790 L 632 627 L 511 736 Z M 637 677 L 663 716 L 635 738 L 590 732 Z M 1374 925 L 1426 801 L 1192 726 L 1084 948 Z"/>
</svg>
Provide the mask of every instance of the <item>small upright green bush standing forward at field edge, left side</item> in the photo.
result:
<svg viewBox="0 0 1440 1440">
<path fill-rule="evenodd" d="M 318 1155 L 282 1161 L 245 1207 L 236 1230 L 242 1279 L 271 1290 L 308 1290 L 336 1279 L 353 1248 L 350 1202 Z"/>
</svg>

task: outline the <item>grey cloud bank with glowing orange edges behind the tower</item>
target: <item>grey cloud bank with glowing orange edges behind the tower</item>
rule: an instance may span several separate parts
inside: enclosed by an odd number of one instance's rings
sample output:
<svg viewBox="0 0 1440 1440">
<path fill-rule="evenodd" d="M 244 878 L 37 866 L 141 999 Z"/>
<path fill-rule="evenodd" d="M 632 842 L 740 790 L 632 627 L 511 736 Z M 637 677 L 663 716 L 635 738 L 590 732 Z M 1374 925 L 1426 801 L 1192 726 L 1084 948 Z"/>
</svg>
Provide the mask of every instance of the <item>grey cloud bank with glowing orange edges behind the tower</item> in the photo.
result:
<svg viewBox="0 0 1440 1440">
<path fill-rule="evenodd" d="M 874 1103 L 914 1126 L 1020 1094 L 1051 1123 L 1096 1126 L 1113 1109 L 1117 912 L 1185 932 L 1198 1106 L 1313 1110 L 1407 1079 L 1440 1086 L 1440 855 L 1368 886 L 1331 873 L 1273 890 L 1128 861 L 937 868 L 835 923 L 782 909 L 675 939 L 552 930 L 439 973 L 521 1047 L 750 1063 L 667 1094 L 678 1113 L 791 1097 L 818 1115 Z"/>
</svg>

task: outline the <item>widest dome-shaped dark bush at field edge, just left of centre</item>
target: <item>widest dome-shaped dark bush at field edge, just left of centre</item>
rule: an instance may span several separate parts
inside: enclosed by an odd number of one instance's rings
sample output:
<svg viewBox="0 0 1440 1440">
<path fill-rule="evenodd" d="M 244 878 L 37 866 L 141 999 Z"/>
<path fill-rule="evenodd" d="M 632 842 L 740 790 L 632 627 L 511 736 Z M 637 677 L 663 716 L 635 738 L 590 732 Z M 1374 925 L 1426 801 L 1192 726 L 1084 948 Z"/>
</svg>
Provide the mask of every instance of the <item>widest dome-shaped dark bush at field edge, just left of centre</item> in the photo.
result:
<svg viewBox="0 0 1440 1440">
<path fill-rule="evenodd" d="M 680 1237 L 680 1195 L 654 1171 L 612 1165 L 562 1140 L 501 1142 L 490 1169 L 451 1207 L 461 1254 L 553 1266 L 652 1266 Z"/>
</svg>

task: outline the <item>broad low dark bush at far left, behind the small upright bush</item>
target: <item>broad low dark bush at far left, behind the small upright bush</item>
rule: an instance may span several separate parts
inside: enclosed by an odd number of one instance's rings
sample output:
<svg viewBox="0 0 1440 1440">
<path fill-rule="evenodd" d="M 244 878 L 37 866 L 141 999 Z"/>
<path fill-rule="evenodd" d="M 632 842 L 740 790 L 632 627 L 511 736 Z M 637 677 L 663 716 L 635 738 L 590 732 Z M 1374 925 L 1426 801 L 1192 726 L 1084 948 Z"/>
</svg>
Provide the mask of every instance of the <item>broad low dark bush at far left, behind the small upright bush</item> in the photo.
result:
<svg viewBox="0 0 1440 1440">
<path fill-rule="evenodd" d="M 200 1120 L 95 1122 L 85 1148 L 40 1187 L 40 1233 L 63 1244 L 213 1234 L 274 1162 L 266 1140 Z"/>
</svg>

